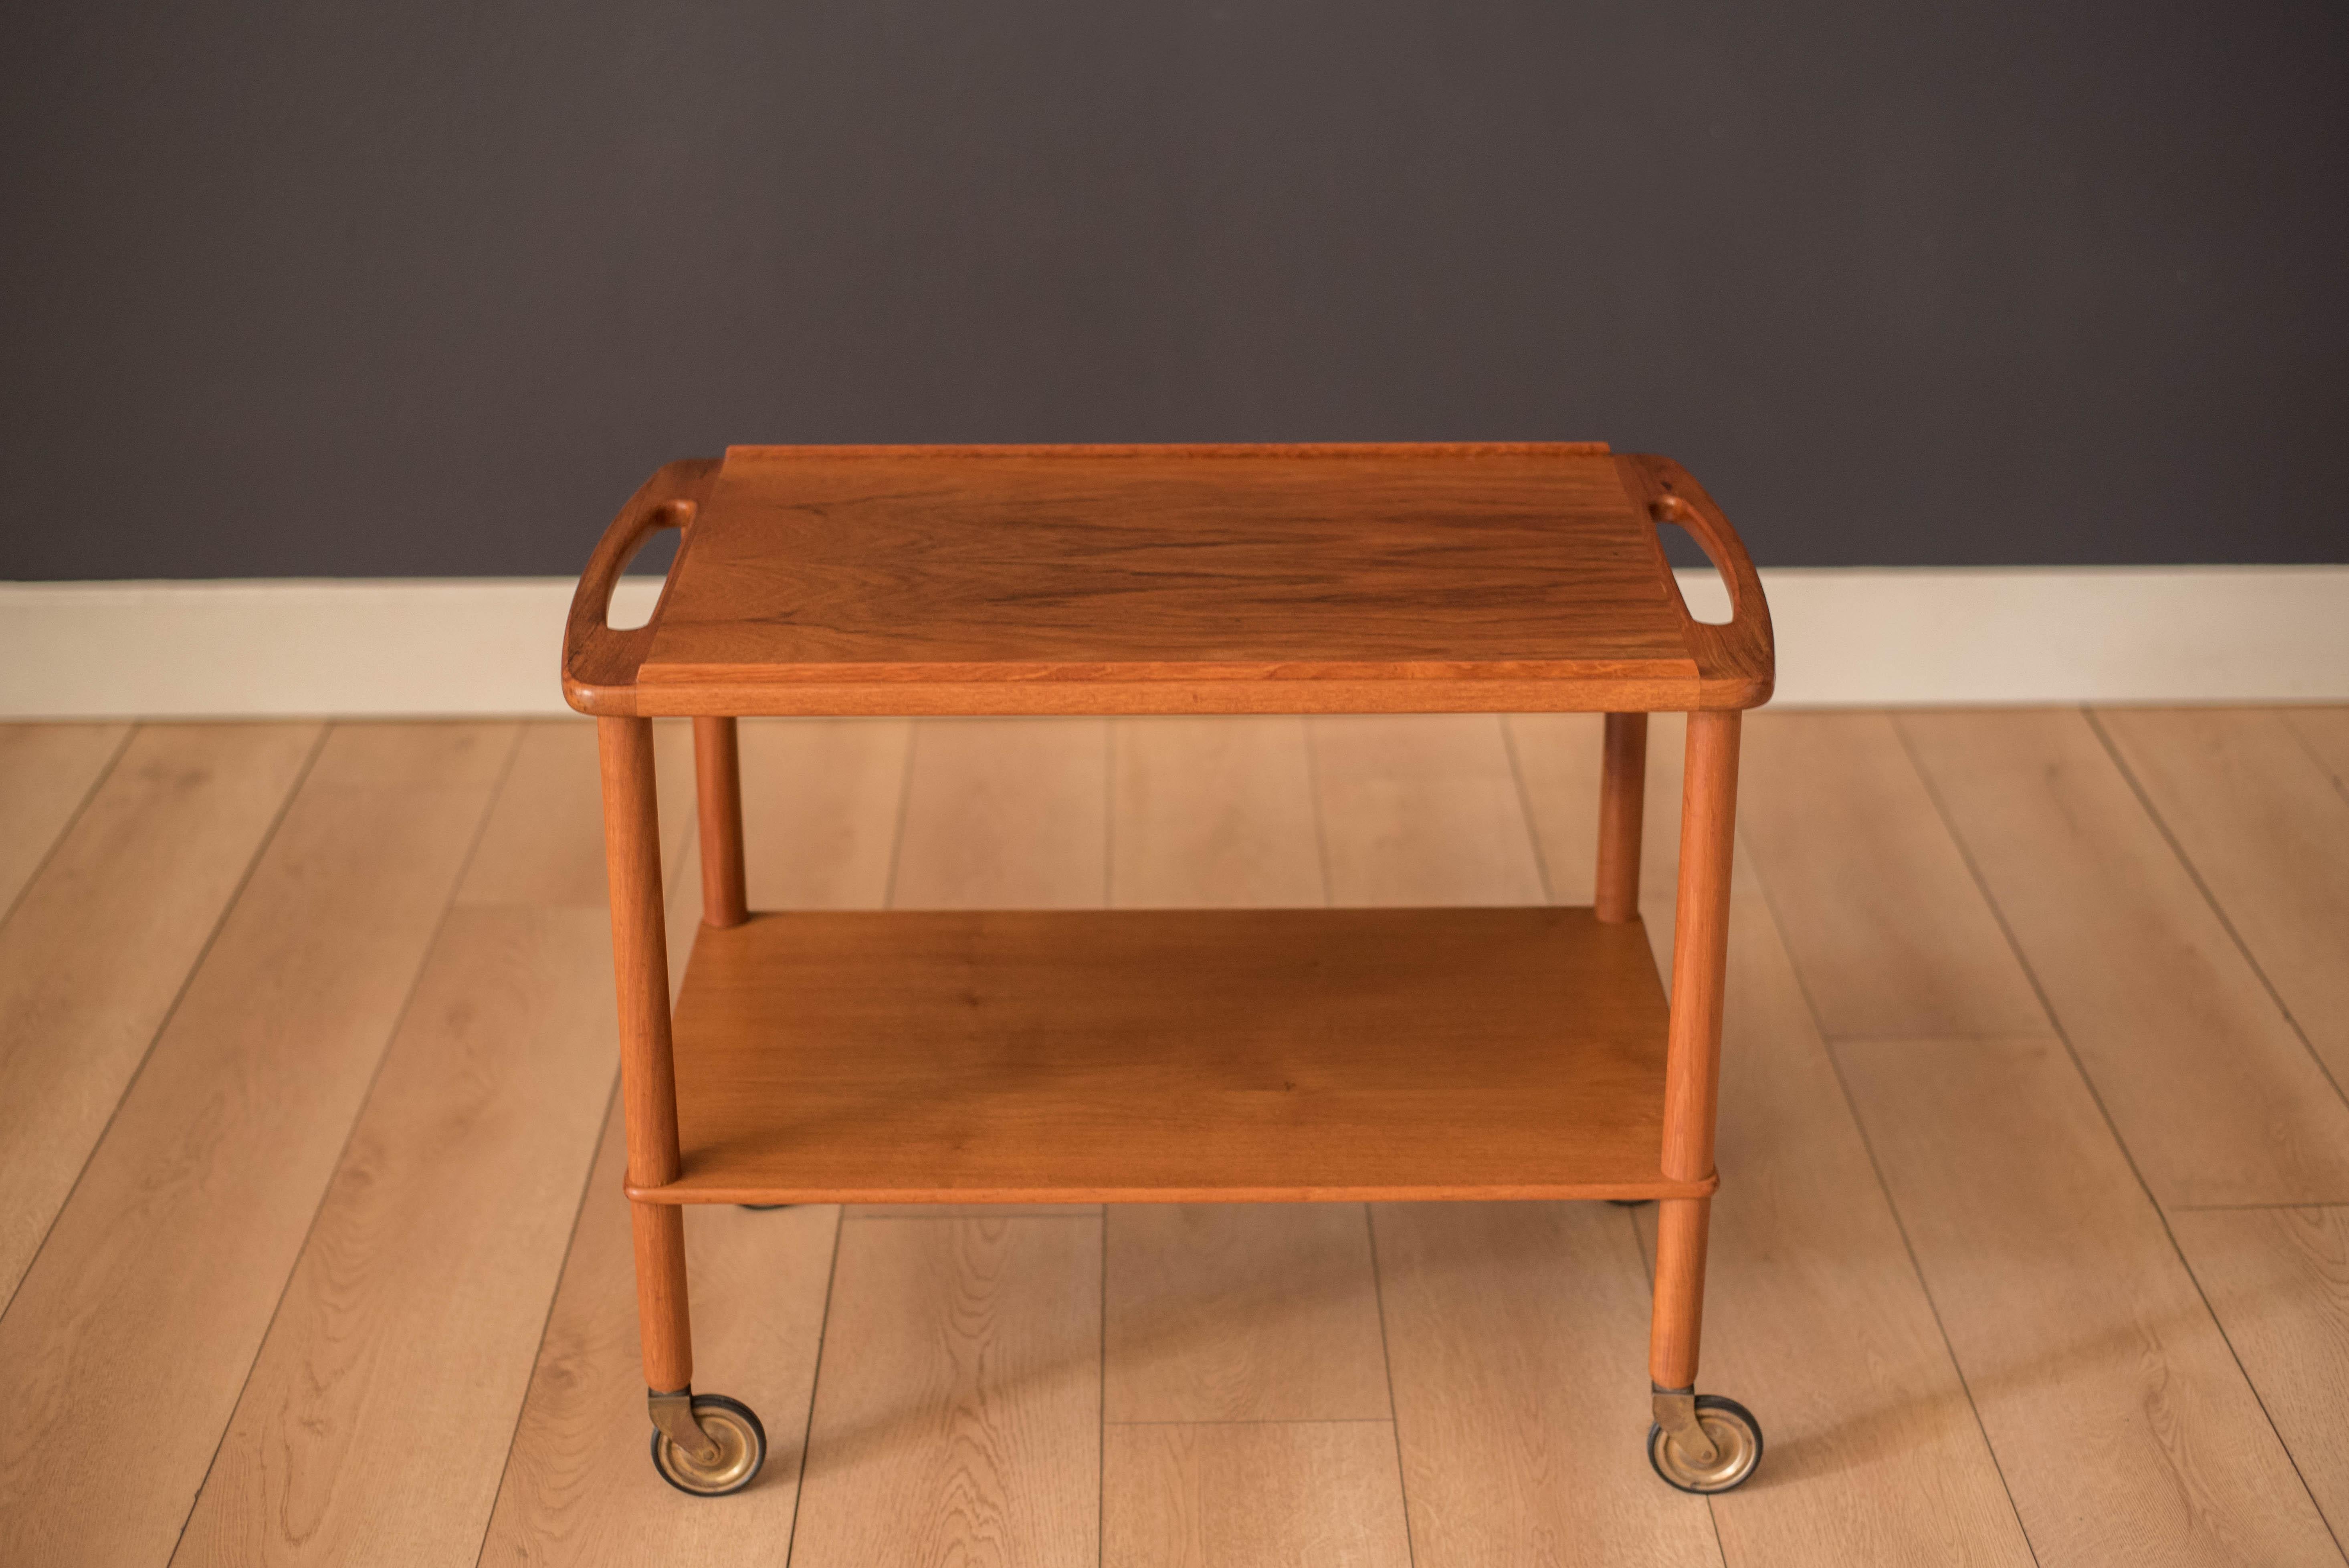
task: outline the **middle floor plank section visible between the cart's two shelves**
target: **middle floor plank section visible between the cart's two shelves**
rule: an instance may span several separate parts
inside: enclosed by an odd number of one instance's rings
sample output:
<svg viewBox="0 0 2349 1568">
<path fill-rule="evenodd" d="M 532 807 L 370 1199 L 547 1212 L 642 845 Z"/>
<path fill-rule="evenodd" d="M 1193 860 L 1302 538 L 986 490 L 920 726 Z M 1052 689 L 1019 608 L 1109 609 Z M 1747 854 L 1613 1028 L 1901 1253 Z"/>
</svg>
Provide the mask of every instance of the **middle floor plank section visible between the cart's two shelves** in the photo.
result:
<svg viewBox="0 0 2349 1568">
<path fill-rule="evenodd" d="M 1313 761 L 1301 718 L 1118 718 L 1111 904 L 1322 904 Z"/>
</svg>

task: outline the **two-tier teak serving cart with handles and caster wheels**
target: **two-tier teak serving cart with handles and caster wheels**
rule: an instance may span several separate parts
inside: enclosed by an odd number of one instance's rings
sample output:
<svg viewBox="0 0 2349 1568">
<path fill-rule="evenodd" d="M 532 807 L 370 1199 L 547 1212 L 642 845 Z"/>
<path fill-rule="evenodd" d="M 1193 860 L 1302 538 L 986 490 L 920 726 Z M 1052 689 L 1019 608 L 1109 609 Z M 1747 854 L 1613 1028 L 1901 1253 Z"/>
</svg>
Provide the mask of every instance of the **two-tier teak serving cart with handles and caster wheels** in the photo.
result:
<svg viewBox="0 0 2349 1568">
<path fill-rule="evenodd" d="M 1729 582 L 1698 622 L 1656 535 Z M 653 620 L 611 592 L 684 528 Z M 1658 1199 L 1649 1460 L 1752 1474 L 1696 1394 L 1738 718 L 1762 582 L 1675 462 L 1602 444 L 738 446 L 606 530 L 564 636 L 594 714 L 653 1462 L 749 1483 L 695 1394 L 679 1204 Z M 1590 908 L 747 913 L 735 718 L 1607 714 Z M 1665 1005 L 1647 714 L 1687 711 Z M 655 716 L 693 718 L 702 930 L 672 1014 Z"/>
</svg>

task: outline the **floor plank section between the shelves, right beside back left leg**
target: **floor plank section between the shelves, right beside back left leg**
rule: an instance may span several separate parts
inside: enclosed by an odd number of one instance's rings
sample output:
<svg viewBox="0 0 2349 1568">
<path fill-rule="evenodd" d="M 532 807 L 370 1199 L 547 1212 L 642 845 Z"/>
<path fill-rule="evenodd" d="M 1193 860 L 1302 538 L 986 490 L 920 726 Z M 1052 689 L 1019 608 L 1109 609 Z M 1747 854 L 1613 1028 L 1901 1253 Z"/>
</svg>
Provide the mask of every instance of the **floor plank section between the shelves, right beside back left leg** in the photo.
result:
<svg viewBox="0 0 2349 1568">
<path fill-rule="evenodd" d="M 775 718 L 740 732 L 749 906 L 881 908 L 914 725 Z"/>
</svg>

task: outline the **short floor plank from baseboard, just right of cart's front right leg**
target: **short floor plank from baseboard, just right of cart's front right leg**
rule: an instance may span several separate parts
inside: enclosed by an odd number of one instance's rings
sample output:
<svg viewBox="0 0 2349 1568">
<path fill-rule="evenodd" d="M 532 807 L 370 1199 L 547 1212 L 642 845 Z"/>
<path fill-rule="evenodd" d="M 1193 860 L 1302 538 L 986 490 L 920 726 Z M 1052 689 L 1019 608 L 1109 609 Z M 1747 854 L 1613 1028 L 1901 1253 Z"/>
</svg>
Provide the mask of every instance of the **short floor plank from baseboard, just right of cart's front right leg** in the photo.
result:
<svg viewBox="0 0 2349 1568">
<path fill-rule="evenodd" d="M 1757 714 L 1741 819 L 1830 1038 L 2046 1028 L 1889 716 Z"/>
</svg>

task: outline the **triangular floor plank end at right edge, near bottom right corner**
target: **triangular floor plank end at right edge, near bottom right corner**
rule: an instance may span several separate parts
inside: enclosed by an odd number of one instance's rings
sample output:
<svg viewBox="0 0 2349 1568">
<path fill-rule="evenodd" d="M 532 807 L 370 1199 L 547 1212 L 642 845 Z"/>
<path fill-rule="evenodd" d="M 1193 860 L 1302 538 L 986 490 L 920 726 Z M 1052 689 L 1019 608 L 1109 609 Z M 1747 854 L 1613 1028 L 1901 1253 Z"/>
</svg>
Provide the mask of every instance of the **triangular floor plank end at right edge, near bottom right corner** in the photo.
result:
<svg viewBox="0 0 2349 1568">
<path fill-rule="evenodd" d="M 2201 1209 L 2170 1232 L 2300 1479 L 2349 1537 L 2349 1209 Z"/>
</svg>

